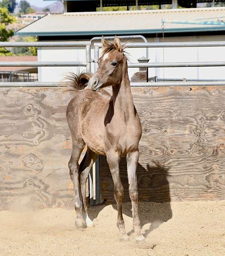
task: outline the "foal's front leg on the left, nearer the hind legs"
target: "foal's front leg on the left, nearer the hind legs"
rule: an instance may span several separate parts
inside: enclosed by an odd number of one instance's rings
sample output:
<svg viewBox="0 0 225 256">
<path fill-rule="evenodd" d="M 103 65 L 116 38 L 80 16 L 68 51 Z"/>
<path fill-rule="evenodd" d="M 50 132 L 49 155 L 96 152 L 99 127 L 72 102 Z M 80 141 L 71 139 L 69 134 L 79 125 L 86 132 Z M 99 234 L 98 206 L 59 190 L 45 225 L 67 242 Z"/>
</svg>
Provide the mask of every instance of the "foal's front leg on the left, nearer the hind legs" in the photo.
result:
<svg viewBox="0 0 225 256">
<path fill-rule="evenodd" d="M 119 157 L 117 152 L 110 152 L 107 154 L 107 161 L 110 167 L 110 172 L 113 177 L 114 182 L 114 197 L 115 201 L 117 202 L 117 227 L 120 230 L 120 241 L 127 241 L 129 240 L 129 236 L 125 231 L 125 225 L 123 220 L 123 213 L 122 213 L 122 202 L 123 202 L 123 185 L 120 181 L 120 170 L 119 170 Z"/>
</svg>

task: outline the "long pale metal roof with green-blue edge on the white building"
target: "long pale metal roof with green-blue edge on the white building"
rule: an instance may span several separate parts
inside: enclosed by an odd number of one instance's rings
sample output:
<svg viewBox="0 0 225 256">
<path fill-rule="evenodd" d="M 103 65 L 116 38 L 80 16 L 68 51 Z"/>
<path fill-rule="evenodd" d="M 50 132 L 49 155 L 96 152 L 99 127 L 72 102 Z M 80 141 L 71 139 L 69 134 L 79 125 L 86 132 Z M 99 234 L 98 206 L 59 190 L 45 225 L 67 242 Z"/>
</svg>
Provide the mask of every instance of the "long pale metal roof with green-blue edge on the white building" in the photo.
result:
<svg viewBox="0 0 225 256">
<path fill-rule="evenodd" d="M 225 7 L 49 14 L 15 32 L 20 36 L 126 35 L 162 33 L 162 19 L 217 21 Z M 225 19 L 225 18 L 224 18 Z M 225 30 L 225 26 L 165 24 L 165 32 Z"/>
</svg>

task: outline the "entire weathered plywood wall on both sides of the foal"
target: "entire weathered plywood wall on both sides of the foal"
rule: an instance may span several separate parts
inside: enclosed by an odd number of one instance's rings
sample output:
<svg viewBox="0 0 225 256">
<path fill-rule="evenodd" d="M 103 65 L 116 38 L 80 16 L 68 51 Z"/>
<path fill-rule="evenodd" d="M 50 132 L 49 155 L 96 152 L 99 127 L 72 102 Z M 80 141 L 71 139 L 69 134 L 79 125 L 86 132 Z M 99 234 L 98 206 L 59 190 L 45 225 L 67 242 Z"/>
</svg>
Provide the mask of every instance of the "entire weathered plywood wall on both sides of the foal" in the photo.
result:
<svg viewBox="0 0 225 256">
<path fill-rule="evenodd" d="M 72 208 L 71 136 L 62 88 L 0 88 L 0 210 Z M 132 88 L 141 117 L 139 199 L 225 199 L 225 90 Z M 114 202 L 101 159 L 102 199 Z M 125 201 L 126 161 L 121 160 Z"/>
</svg>

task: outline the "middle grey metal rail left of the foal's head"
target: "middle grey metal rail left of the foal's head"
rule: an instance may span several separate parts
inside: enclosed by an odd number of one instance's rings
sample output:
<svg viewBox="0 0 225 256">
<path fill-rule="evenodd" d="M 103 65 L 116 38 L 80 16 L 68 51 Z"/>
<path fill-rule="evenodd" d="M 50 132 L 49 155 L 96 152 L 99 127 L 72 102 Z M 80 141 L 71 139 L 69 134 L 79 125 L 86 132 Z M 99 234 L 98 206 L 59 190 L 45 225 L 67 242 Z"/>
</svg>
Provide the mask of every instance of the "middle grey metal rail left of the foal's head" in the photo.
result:
<svg viewBox="0 0 225 256">
<path fill-rule="evenodd" d="M 19 62 L 0 62 L 1 67 L 73 67 L 73 66 L 87 66 L 87 62 L 34 62 L 34 61 L 19 61 Z"/>
</svg>

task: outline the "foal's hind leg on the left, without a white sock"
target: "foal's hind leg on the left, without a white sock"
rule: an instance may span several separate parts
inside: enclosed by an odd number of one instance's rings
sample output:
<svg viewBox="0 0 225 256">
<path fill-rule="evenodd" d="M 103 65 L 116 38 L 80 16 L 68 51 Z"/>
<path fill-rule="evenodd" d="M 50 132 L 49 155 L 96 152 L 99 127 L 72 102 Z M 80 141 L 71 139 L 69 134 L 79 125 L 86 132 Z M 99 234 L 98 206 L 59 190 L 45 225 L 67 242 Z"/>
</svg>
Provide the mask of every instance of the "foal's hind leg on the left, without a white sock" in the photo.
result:
<svg viewBox="0 0 225 256">
<path fill-rule="evenodd" d="M 83 218 L 83 197 L 81 194 L 78 161 L 84 149 L 85 143 L 82 140 L 77 141 L 73 136 L 72 136 L 72 142 L 73 142 L 72 155 L 71 155 L 71 159 L 69 160 L 68 166 L 69 166 L 69 174 L 74 185 L 75 211 L 77 214 L 77 217 L 75 219 L 75 225 L 77 227 L 84 228 L 86 227 L 86 224 Z"/>
</svg>

